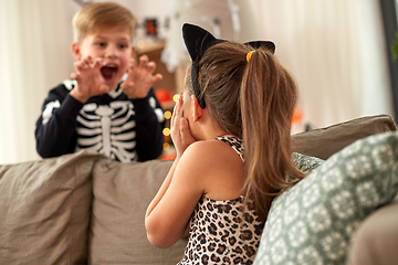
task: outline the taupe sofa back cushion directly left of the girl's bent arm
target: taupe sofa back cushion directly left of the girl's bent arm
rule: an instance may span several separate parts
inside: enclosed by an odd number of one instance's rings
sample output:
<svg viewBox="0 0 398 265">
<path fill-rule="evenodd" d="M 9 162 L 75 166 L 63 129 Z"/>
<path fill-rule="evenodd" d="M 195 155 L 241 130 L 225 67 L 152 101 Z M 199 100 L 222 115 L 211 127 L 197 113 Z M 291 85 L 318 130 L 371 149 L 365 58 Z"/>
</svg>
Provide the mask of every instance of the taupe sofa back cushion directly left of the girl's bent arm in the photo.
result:
<svg viewBox="0 0 398 265">
<path fill-rule="evenodd" d="M 177 264 L 186 240 L 161 250 L 146 236 L 145 213 L 171 161 L 98 161 L 93 171 L 91 264 Z"/>
</svg>

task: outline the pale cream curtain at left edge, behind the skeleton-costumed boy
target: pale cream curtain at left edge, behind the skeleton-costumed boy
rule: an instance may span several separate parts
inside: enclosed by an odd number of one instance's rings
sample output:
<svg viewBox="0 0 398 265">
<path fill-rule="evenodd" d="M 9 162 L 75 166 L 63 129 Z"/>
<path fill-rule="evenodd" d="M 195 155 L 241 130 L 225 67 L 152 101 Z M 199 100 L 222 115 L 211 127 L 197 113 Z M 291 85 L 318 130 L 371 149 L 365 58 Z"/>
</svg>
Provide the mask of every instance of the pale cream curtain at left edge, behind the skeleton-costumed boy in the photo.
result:
<svg viewBox="0 0 398 265">
<path fill-rule="evenodd" d="M 64 0 L 0 0 L 0 163 L 38 159 L 35 120 L 73 71 Z"/>
</svg>

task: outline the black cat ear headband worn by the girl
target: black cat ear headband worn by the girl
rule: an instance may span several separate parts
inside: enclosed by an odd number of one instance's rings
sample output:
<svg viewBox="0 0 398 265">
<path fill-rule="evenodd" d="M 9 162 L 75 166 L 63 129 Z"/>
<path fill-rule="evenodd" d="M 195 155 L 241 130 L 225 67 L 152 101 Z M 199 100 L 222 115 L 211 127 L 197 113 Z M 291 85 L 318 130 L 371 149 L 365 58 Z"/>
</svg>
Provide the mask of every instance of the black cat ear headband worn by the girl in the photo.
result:
<svg viewBox="0 0 398 265">
<path fill-rule="evenodd" d="M 201 108 L 206 107 L 205 98 L 200 95 L 200 88 L 198 85 L 198 74 L 199 74 L 199 61 L 202 57 L 203 53 L 212 45 L 224 42 L 226 40 L 216 39 L 210 32 L 207 30 L 193 25 L 185 23 L 182 25 L 182 38 L 184 42 L 187 46 L 188 53 L 192 60 L 192 70 L 191 70 L 191 78 L 192 78 L 192 87 L 195 96 L 198 98 L 199 106 Z M 245 45 L 250 45 L 253 49 L 263 47 L 272 53 L 275 52 L 275 44 L 271 41 L 252 41 L 245 42 Z M 252 52 L 248 53 L 247 60 L 249 61 Z"/>
</svg>

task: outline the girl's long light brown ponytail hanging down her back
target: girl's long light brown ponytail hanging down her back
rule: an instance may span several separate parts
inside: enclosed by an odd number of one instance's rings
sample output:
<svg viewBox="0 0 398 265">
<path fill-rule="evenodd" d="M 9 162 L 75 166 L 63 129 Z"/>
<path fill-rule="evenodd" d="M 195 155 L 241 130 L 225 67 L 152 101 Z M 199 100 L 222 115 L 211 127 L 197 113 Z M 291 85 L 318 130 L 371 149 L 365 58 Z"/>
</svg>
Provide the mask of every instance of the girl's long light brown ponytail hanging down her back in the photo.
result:
<svg viewBox="0 0 398 265">
<path fill-rule="evenodd" d="M 269 51 L 252 51 L 247 61 L 240 89 L 245 190 L 265 222 L 272 200 L 304 177 L 291 160 L 297 92 L 293 77 Z"/>
</svg>

